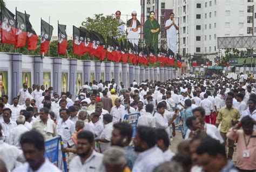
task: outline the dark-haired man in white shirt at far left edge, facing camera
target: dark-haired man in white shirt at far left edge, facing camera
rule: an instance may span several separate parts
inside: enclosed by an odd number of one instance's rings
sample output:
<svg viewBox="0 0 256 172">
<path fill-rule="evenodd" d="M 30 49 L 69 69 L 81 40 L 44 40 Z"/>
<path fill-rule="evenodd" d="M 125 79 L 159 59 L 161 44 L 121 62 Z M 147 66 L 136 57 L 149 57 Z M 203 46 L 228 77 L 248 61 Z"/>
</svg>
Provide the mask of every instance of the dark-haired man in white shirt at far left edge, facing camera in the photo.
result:
<svg viewBox="0 0 256 172">
<path fill-rule="evenodd" d="M 11 120 L 11 110 L 9 108 L 5 108 L 3 110 L 3 120 L 0 121 L 0 124 L 2 125 L 2 134 L 4 134 L 5 137 L 4 141 L 9 144 L 11 138 L 11 129 L 17 126 L 16 122 Z"/>
</svg>

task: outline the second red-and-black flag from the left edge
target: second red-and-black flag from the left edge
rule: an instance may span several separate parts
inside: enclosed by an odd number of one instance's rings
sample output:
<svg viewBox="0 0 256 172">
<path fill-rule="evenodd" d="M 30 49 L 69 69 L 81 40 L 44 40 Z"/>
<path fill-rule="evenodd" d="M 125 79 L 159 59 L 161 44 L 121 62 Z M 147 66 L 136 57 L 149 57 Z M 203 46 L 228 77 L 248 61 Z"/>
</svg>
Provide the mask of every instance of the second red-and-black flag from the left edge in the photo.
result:
<svg viewBox="0 0 256 172">
<path fill-rule="evenodd" d="M 26 17 L 22 12 L 16 9 L 16 41 L 15 48 L 23 47 L 26 45 Z"/>
</svg>

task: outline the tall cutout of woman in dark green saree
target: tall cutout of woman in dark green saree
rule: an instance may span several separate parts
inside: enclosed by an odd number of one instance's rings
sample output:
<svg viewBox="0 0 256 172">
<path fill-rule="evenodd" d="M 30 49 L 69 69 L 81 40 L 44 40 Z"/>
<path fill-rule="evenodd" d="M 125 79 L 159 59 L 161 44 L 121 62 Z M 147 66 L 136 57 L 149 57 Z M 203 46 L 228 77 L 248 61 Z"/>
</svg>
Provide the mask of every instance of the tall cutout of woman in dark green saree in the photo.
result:
<svg viewBox="0 0 256 172">
<path fill-rule="evenodd" d="M 155 19 L 155 16 L 156 14 L 154 11 L 150 11 L 150 18 L 147 19 L 144 24 L 144 38 L 146 46 L 152 45 L 154 47 L 154 52 L 157 52 L 160 25 Z"/>
</svg>

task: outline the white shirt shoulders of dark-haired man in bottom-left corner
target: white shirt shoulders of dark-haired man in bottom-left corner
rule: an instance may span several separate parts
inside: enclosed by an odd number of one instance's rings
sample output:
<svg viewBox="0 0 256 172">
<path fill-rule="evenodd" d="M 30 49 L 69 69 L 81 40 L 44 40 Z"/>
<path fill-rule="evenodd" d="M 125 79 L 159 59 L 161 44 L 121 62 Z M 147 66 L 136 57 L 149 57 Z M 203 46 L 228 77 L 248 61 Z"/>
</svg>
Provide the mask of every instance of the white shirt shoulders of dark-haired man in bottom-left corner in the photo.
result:
<svg viewBox="0 0 256 172">
<path fill-rule="evenodd" d="M 15 168 L 13 172 L 20 172 L 20 171 L 33 171 L 33 170 L 29 166 L 29 163 L 25 162 L 21 166 Z M 48 172 L 48 171 L 60 172 L 61 170 L 55 165 L 53 165 L 48 159 L 45 159 L 44 163 L 39 167 L 37 172 Z"/>
</svg>

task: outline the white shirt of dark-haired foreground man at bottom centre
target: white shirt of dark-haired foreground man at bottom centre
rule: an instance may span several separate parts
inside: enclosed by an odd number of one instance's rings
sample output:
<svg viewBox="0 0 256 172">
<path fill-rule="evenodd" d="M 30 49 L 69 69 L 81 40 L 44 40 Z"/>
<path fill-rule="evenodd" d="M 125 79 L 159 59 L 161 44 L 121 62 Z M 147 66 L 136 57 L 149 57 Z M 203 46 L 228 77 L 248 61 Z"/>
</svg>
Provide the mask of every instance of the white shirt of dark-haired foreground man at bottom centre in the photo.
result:
<svg viewBox="0 0 256 172">
<path fill-rule="evenodd" d="M 132 172 L 153 172 L 154 168 L 164 161 L 163 151 L 156 146 L 152 147 L 138 155 Z"/>
</svg>

